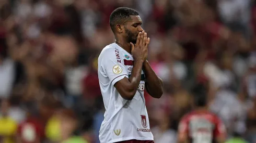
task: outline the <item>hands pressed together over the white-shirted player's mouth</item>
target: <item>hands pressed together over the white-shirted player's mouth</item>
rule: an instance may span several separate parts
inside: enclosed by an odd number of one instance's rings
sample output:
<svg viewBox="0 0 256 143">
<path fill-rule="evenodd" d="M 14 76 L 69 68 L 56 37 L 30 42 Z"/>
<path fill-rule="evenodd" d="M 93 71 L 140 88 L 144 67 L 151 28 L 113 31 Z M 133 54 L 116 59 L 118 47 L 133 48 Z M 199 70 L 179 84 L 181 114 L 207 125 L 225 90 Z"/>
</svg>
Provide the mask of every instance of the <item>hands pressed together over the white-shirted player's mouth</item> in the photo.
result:
<svg viewBox="0 0 256 143">
<path fill-rule="evenodd" d="M 147 38 L 147 33 L 145 31 L 139 32 L 136 44 L 130 43 L 132 46 L 132 55 L 134 60 L 145 61 L 147 59 L 148 44 L 150 38 Z"/>
</svg>

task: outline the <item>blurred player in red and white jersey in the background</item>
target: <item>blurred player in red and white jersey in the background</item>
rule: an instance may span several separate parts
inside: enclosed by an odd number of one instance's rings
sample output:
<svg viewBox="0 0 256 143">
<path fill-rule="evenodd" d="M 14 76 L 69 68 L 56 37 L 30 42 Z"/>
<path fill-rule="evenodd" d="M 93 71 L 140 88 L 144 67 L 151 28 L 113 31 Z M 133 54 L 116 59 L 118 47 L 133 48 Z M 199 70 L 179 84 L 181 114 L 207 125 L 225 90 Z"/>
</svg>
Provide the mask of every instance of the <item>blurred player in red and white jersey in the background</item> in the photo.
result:
<svg viewBox="0 0 256 143">
<path fill-rule="evenodd" d="M 179 123 L 178 143 L 223 143 L 226 129 L 217 115 L 207 110 L 207 95 L 204 86 L 193 90 L 195 110 L 184 115 Z"/>
</svg>

